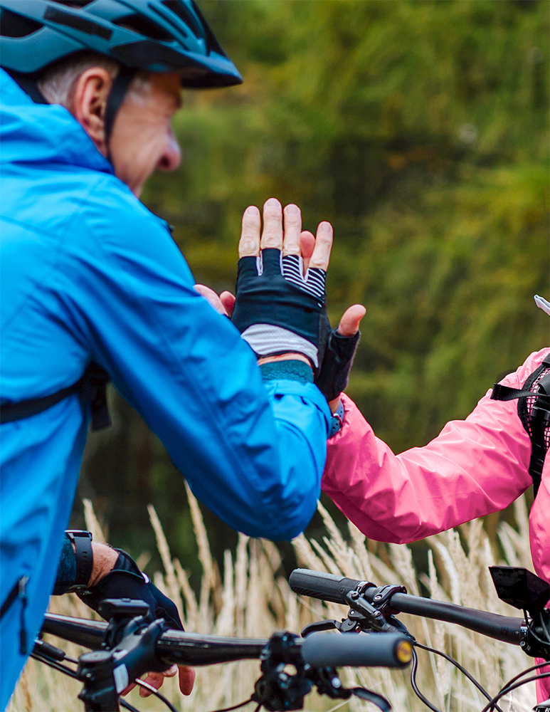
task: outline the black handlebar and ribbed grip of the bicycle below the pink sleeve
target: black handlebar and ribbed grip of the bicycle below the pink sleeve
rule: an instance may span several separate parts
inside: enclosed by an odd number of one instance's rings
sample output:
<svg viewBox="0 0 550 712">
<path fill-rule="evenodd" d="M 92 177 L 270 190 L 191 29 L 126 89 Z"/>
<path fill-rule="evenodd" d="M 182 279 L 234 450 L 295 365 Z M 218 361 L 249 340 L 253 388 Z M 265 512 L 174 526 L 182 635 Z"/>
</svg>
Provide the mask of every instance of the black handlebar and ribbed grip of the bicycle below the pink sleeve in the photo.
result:
<svg viewBox="0 0 550 712">
<path fill-rule="evenodd" d="M 290 574 L 290 587 L 295 593 L 311 596 L 322 601 L 349 605 L 345 596 L 350 591 L 359 591 L 369 603 L 373 603 L 376 586 L 366 581 L 334 576 L 321 571 L 295 569 Z M 482 633 L 487 637 L 513 645 L 521 644 L 527 632 L 523 618 L 501 616 L 453 603 L 434 601 L 430 598 L 394 593 L 389 600 L 391 608 L 399 613 L 433 618 Z"/>
</svg>

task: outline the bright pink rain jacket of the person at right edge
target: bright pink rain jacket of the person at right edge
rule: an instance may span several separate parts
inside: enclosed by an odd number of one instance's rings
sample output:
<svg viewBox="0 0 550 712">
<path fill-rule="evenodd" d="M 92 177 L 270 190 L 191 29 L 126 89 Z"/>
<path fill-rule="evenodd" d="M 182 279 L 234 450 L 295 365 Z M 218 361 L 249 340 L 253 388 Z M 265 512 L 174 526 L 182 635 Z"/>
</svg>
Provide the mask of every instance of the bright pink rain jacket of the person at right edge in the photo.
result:
<svg viewBox="0 0 550 712">
<path fill-rule="evenodd" d="M 502 383 L 521 388 L 549 353 L 533 353 Z M 327 443 L 323 490 L 367 537 L 399 544 L 504 509 L 532 484 L 531 441 L 517 400 L 494 401 L 490 394 L 465 420 L 448 423 L 428 445 L 400 455 L 342 395 L 344 424 Z M 529 536 L 534 570 L 550 582 L 550 455 L 529 514 Z M 538 701 L 550 696 L 549 680 L 537 682 Z"/>
</svg>

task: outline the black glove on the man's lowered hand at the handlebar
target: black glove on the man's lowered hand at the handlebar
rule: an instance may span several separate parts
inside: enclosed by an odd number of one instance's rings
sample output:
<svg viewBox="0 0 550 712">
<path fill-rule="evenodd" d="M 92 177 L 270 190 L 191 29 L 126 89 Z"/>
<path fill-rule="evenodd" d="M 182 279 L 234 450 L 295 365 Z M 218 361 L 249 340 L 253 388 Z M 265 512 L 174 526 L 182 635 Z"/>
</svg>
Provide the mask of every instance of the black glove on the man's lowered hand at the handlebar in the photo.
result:
<svg viewBox="0 0 550 712">
<path fill-rule="evenodd" d="M 142 600 L 149 606 L 147 620 L 164 618 L 171 628 L 183 630 L 175 604 L 152 584 L 137 563 L 122 549 L 115 549 L 118 558 L 112 570 L 100 582 L 77 595 L 87 606 L 99 613 L 99 605 L 106 598 Z"/>
</svg>

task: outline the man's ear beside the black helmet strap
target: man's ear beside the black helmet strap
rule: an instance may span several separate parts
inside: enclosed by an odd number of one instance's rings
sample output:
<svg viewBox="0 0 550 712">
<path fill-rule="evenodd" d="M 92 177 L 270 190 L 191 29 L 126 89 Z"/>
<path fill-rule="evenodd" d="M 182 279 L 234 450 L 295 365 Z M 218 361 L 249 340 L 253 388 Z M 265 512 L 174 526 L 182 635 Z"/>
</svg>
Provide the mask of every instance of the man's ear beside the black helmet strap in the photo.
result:
<svg viewBox="0 0 550 712">
<path fill-rule="evenodd" d="M 91 67 L 78 78 L 73 95 L 75 119 L 104 156 L 107 155 L 105 108 L 111 87 L 110 73 L 102 67 Z"/>
</svg>

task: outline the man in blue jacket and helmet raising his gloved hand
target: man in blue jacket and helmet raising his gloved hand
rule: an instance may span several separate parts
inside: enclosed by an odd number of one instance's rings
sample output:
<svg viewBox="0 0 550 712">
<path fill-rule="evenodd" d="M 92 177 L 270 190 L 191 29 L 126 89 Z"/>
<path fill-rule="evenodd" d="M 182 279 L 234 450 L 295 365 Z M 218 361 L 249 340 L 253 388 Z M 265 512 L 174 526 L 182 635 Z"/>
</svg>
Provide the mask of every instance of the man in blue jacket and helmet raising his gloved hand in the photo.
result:
<svg viewBox="0 0 550 712">
<path fill-rule="evenodd" d="M 305 528 L 331 423 L 312 370 L 332 228 L 319 227 L 308 284 L 280 259 L 300 251 L 299 211 L 285 209 L 283 244 L 281 206 L 265 204 L 265 269 L 245 258 L 235 328 L 137 199 L 155 168 L 179 162 L 170 119 L 181 85 L 241 80 L 194 2 L 0 9 L 4 709 L 53 590 L 90 407 L 105 424 L 106 377 L 223 520 L 276 540 Z M 259 224 L 248 209 L 244 238 Z M 289 303 L 275 317 L 255 311 L 262 293 Z"/>
</svg>

